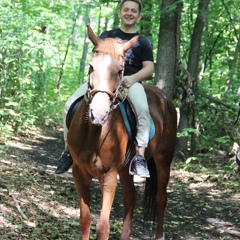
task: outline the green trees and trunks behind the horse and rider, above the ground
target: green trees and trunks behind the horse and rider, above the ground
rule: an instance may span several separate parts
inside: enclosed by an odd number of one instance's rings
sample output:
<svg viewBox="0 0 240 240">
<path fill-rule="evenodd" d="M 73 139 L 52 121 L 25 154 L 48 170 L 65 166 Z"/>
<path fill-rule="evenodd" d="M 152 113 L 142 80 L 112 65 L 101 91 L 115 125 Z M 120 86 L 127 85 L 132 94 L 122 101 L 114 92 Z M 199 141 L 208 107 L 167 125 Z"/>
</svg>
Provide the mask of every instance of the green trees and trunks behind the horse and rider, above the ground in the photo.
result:
<svg viewBox="0 0 240 240">
<path fill-rule="evenodd" d="M 240 143 L 239 0 L 143 0 L 139 33 L 153 44 L 149 80 L 180 112 L 178 156 L 234 154 Z M 2 0 L 0 142 L 37 126 L 62 125 L 67 98 L 87 81 L 96 34 L 119 26 L 118 1 Z M 235 124 L 234 124 L 235 123 Z M 229 163 L 234 167 L 235 163 Z"/>
</svg>

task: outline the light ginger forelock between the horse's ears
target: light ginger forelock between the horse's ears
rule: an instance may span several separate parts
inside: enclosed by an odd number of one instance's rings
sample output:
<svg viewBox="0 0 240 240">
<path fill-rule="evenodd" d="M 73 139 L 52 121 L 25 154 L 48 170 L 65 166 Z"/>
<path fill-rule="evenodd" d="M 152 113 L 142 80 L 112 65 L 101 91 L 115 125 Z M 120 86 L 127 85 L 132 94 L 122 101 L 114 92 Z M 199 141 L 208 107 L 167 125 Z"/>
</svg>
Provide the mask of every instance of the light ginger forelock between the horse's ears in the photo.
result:
<svg viewBox="0 0 240 240">
<path fill-rule="evenodd" d="M 121 43 L 123 41 L 118 38 L 105 38 L 95 47 L 94 51 L 109 54 L 113 58 L 124 57 L 124 52 L 119 46 Z"/>
</svg>

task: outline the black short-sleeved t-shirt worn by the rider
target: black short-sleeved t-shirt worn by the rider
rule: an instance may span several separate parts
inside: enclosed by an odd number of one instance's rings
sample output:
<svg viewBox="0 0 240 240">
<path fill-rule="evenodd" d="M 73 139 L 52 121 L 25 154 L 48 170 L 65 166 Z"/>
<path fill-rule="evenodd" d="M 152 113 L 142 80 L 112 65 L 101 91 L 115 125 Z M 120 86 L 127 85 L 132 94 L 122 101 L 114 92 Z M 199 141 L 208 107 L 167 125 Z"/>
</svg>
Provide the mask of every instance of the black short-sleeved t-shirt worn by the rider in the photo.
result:
<svg viewBox="0 0 240 240">
<path fill-rule="evenodd" d="M 138 33 L 125 33 L 121 29 L 114 29 L 111 31 L 105 31 L 100 35 L 100 38 L 120 38 L 121 40 L 128 41 Z M 144 36 L 140 36 L 136 45 L 126 52 L 126 62 L 124 75 L 132 75 L 142 69 L 142 62 L 152 61 L 153 52 L 152 45 L 148 39 Z"/>
</svg>

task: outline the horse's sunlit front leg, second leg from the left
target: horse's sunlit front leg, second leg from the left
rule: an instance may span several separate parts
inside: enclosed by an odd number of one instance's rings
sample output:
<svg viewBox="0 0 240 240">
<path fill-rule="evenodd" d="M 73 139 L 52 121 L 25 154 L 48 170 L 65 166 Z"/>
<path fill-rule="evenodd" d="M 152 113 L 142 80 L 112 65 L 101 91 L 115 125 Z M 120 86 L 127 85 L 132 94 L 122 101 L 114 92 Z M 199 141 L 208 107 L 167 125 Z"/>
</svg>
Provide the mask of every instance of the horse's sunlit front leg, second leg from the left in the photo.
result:
<svg viewBox="0 0 240 240">
<path fill-rule="evenodd" d="M 97 222 L 96 235 L 98 240 L 109 239 L 110 225 L 109 217 L 116 192 L 117 171 L 109 171 L 100 178 L 102 192 L 100 217 Z"/>
</svg>

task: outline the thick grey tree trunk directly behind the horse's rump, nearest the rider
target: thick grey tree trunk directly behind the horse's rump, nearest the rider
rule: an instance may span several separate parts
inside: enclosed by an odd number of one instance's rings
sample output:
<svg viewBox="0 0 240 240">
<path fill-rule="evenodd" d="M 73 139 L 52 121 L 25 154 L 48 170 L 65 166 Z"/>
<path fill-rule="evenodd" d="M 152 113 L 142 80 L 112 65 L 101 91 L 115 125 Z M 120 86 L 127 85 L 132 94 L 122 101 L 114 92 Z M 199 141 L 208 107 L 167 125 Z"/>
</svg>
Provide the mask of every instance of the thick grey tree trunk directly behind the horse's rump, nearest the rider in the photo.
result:
<svg viewBox="0 0 240 240">
<path fill-rule="evenodd" d="M 177 29 L 179 1 L 163 0 L 156 64 L 156 85 L 173 98 L 177 66 Z"/>
</svg>

